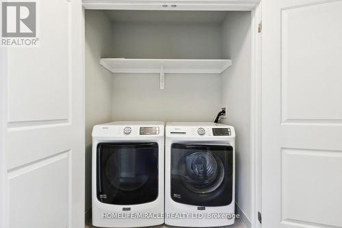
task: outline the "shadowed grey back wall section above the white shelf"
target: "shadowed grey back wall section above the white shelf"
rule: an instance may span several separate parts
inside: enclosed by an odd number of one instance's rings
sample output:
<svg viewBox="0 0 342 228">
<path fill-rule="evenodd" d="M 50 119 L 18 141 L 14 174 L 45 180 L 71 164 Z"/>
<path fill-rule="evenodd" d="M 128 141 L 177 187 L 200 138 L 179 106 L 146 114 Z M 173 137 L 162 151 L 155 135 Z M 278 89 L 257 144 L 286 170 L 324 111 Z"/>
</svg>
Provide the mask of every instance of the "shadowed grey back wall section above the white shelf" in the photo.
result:
<svg viewBox="0 0 342 228">
<path fill-rule="evenodd" d="M 116 58 L 221 57 L 219 23 L 114 23 Z"/>
</svg>

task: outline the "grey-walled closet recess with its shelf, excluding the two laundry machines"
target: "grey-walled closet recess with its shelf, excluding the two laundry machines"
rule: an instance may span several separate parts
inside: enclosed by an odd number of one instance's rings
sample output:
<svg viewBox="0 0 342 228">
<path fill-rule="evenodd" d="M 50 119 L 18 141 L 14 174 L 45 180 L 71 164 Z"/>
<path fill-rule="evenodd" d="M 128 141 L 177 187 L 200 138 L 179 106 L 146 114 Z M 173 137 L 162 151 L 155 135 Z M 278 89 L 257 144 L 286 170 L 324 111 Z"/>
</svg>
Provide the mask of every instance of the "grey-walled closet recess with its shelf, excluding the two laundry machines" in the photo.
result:
<svg viewBox="0 0 342 228">
<path fill-rule="evenodd" d="M 94 125 L 213 122 L 225 109 L 221 123 L 236 131 L 237 213 L 250 226 L 252 17 L 241 10 L 85 10 L 86 210 Z"/>
</svg>

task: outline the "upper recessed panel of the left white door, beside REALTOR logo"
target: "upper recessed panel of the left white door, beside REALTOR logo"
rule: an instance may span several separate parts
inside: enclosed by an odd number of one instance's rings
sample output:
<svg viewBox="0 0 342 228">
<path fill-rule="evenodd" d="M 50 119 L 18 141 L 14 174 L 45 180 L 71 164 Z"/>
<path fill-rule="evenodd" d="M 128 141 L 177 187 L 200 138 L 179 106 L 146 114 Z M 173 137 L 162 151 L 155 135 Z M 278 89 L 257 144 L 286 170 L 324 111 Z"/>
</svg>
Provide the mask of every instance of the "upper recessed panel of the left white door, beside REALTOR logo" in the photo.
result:
<svg viewBox="0 0 342 228">
<path fill-rule="evenodd" d="M 70 120 L 70 7 L 68 1 L 39 1 L 39 47 L 8 52 L 10 127 Z"/>
</svg>

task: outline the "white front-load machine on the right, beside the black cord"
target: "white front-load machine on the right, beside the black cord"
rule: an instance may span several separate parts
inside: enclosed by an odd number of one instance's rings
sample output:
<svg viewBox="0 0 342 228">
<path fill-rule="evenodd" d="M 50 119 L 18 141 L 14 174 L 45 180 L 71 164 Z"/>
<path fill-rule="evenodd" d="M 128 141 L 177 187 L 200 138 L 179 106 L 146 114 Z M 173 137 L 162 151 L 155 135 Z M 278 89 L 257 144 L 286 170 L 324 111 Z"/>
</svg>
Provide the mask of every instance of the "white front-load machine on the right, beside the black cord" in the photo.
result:
<svg viewBox="0 0 342 228">
<path fill-rule="evenodd" d="M 235 130 L 216 123 L 167 123 L 165 223 L 233 225 Z"/>
</svg>

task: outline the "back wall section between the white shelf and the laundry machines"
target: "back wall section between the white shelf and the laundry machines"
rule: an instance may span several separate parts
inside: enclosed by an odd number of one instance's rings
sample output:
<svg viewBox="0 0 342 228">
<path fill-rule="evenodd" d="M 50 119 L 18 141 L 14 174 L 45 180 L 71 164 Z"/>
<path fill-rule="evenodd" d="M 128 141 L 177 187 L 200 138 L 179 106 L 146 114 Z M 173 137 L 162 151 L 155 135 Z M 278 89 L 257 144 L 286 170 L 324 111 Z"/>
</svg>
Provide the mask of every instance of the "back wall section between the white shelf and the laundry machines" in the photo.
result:
<svg viewBox="0 0 342 228">
<path fill-rule="evenodd" d="M 220 75 L 116 75 L 113 80 L 115 121 L 209 121 L 220 108 Z"/>
</svg>

